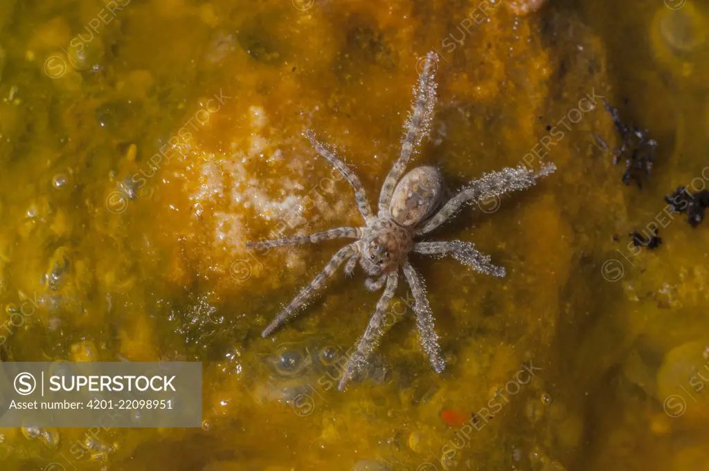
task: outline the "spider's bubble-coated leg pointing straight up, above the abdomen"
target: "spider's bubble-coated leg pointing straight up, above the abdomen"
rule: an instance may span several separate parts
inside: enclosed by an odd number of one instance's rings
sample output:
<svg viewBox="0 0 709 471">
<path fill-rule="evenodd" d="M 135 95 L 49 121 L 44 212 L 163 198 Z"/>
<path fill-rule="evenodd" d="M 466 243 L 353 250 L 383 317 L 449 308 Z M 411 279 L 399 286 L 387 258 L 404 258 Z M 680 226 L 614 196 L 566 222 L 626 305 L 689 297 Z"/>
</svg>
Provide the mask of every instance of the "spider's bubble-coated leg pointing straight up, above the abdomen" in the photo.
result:
<svg viewBox="0 0 709 471">
<path fill-rule="evenodd" d="M 436 100 L 434 76 L 437 62 L 438 55 L 435 52 L 429 52 L 426 55 L 423 73 L 418 80 L 418 88 L 414 90 L 413 110 L 404 125 L 406 134 L 403 137 L 403 142 L 401 142 L 401 154 L 399 154 L 396 163 L 391 167 L 389 175 L 386 176 L 384 185 L 381 186 L 381 193 L 379 193 L 380 215 L 386 214 L 386 211 L 389 210 L 394 187 L 403 176 L 403 172 L 408 165 L 408 159 L 411 158 L 411 153 L 419 146 L 423 136 L 427 135 L 430 130 L 433 106 Z"/>
</svg>

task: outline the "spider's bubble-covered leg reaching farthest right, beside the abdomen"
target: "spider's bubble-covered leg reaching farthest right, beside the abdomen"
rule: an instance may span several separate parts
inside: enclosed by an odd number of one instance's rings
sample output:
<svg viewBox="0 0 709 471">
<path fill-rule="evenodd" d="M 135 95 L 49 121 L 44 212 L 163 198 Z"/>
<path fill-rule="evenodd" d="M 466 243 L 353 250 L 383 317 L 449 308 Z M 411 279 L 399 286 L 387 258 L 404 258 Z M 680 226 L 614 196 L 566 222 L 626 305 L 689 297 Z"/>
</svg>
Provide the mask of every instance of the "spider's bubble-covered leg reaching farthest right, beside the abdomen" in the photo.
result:
<svg viewBox="0 0 709 471">
<path fill-rule="evenodd" d="M 501 171 L 484 174 L 479 180 L 468 183 L 460 193 L 451 198 L 434 217 L 423 227 L 416 230 L 416 235 L 428 234 L 428 232 L 442 225 L 465 203 L 499 198 L 505 193 L 525 190 L 537 183 L 538 178 L 552 174 L 556 169 L 557 166 L 554 164 L 546 164 L 536 172 L 532 171 L 532 169 L 527 169 L 525 166 L 518 166 L 516 169 L 507 167 Z"/>
</svg>

